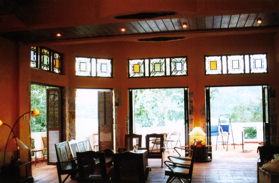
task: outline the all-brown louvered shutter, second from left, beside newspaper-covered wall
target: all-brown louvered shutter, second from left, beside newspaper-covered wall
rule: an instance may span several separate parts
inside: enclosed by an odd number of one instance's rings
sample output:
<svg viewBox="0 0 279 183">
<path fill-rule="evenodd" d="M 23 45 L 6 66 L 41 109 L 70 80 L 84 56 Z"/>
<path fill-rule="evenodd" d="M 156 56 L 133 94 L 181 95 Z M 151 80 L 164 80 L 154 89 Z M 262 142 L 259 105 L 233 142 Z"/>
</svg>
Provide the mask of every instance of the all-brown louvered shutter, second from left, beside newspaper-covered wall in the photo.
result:
<svg viewBox="0 0 279 183">
<path fill-rule="evenodd" d="M 113 149 L 112 91 L 98 91 L 99 149 Z"/>
</svg>

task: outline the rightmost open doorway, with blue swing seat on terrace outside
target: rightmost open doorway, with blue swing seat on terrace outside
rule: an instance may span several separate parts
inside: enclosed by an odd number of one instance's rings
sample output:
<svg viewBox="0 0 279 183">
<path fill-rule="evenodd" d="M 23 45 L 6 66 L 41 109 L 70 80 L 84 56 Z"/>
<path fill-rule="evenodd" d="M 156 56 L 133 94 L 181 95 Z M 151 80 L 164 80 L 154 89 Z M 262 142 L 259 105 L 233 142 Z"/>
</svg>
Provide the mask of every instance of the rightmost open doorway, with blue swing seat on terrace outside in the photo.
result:
<svg viewBox="0 0 279 183">
<path fill-rule="evenodd" d="M 249 152 L 258 156 L 257 146 L 264 142 L 266 88 L 262 85 L 206 88 L 211 132 L 207 135 L 211 135 L 209 140 L 213 156 L 226 151 L 227 147 L 227 151 Z"/>
</svg>

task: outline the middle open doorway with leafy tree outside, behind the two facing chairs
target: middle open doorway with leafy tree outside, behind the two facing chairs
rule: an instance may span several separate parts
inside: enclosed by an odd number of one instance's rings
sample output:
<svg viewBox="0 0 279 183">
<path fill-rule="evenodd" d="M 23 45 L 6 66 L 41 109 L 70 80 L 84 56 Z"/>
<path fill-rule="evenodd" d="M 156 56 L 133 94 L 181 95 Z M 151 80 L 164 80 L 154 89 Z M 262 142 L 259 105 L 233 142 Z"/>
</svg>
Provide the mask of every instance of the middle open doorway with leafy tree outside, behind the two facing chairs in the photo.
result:
<svg viewBox="0 0 279 183">
<path fill-rule="evenodd" d="M 147 134 L 168 134 L 179 140 L 169 142 L 167 148 L 187 144 L 189 133 L 188 89 L 130 89 L 129 90 L 129 131 L 142 135 L 142 147 L 146 146 Z M 172 144 L 170 144 L 172 143 Z"/>
</svg>

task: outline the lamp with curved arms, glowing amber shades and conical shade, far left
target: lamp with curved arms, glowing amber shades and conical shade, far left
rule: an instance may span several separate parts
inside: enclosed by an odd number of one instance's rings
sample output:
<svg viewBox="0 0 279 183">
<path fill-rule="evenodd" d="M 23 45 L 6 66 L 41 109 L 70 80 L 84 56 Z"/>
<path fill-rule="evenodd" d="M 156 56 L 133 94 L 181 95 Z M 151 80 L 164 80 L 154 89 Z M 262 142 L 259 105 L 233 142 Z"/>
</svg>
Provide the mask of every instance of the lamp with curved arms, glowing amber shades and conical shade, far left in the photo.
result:
<svg viewBox="0 0 279 183">
<path fill-rule="evenodd" d="M 30 112 L 31 112 L 31 115 L 32 115 L 32 116 L 38 116 L 38 115 L 40 115 L 40 113 L 41 113 L 38 109 L 34 109 L 34 110 L 29 111 L 29 112 L 27 112 L 27 113 L 30 113 Z M 20 119 L 23 115 L 25 115 L 25 114 L 27 114 L 27 113 L 22 114 L 22 115 L 17 119 L 17 121 L 15 122 L 15 124 L 14 124 L 12 127 L 11 127 L 10 125 L 7 125 L 7 124 L 3 123 L 3 122 L 0 120 L 0 126 L 1 126 L 1 125 L 6 125 L 6 126 L 8 126 L 8 127 L 11 129 L 10 134 L 9 134 L 9 136 L 8 136 L 8 139 L 7 139 L 7 143 L 6 143 L 5 147 L 3 147 L 3 148 L 1 149 L 1 151 L 4 151 L 4 160 L 3 160 L 4 165 L 5 165 L 6 151 L 17 151 L 17 157 L 12 158 L 12 160 L 11 160 L 11 164 L 14 164 L 14 165 L 15 165 L 15 164 L 19 163 L 18 151 L 19 151 L 19 150 L 28 149 L 28 147 L 27 147 L 21 140 L 19 140 L 19 139 L 16 137 L 16 135 L 15 135 L 15 133 L 14 133 L 14 131 L 13 131 L 13 128 L 15 127 L 15 125 L 17 124 L 17 122 L 19 121 L 19 119 Z M 11 134 L 13 134 L 13 137 L 10 139 Z"/>
</svg>

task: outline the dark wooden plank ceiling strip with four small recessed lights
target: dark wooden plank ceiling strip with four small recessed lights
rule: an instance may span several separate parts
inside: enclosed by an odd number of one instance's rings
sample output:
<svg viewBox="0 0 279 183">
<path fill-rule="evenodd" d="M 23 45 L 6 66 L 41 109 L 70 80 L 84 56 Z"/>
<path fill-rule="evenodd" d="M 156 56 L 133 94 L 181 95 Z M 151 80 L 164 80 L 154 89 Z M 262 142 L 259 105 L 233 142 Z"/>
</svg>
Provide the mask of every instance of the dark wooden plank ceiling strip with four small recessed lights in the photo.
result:
<svg viewBox="0 0 279 183">
<path fill-rule="evenodd" d="M 166 17 L 164 17 L 166 18 Z M 257 19 L 262 23 L 258 24 Z M 187 23 L 182 28 L 182 23 Z M 218 31 L 247 28 L 278 28 L 278 13 L 252 13 L 224 16 L 172 18 L 157 20 L 141 20 L 124 23 L 109 23 L 99 25 L 83 25 L 77 27 L 61 27 L 17 32 L 4 32 L 0 36 L 15 42 L 32 43 L 55 40 L 72 40 L 79 38 L 100 38 L 124 35 L 189 32 L 189 31 Z M 120 29 L 126 28 L 125 32 Z M 61 37 L 55 35 L 60 33 Z"/>
</svg>

